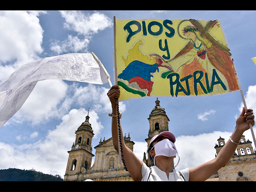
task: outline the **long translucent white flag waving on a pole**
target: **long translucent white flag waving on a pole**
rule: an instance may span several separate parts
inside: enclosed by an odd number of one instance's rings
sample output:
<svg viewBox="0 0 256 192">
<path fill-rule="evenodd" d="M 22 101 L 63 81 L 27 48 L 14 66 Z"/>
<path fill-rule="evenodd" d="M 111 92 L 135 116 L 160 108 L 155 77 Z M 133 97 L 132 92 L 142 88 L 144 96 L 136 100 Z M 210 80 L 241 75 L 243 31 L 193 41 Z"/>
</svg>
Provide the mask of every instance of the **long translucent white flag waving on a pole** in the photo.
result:
<svg viewBox="0 0 256 192">
<path fill-rule="evenodd" d="M 108 72 L 94 53 L 72 53 L 29 62 L 0 82 L 0 127 L 21 108 L 36 83 L 46 79 L 110 82 Z"/>
</svg>

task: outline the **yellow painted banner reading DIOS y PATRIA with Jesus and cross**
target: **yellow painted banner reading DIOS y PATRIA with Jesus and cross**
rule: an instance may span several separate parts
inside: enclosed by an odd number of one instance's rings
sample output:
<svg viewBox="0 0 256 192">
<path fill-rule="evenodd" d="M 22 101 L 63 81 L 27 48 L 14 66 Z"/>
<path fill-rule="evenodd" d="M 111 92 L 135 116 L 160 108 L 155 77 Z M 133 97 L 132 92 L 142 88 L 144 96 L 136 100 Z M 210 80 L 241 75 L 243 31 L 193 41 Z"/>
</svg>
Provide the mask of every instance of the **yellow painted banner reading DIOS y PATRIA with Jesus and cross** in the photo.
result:
<svg viewBox="0 0 256 192">
<path fill-rule="evenodd" d="M 115 19 L 119 100 L 240 90 L 220 20 Z"/>
</svg>

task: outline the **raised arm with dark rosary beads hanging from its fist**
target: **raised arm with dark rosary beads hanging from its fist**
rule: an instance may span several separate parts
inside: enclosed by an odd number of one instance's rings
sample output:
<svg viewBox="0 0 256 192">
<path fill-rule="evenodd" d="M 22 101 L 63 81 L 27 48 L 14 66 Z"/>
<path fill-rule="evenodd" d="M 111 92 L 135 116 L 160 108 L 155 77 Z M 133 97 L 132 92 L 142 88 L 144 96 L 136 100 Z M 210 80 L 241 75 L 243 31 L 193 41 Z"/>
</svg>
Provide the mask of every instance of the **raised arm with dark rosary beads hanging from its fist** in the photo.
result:
<svg viewBox="0 0 256 192">
<path fill-rule="evenodd" d="M 114 85 L 108 91 L 108 97 L 110 99 L 112 105 L 112 114 L 117 114 L 116 108 L 116 97 L 119 98 L 120 96 L 120 88 L 117 85 Z M 120 125 L 121 129 L 121 140 L 122 140 L 122 150 L 124 155 L 124 160 L 126 164 L 126 168 L 132 179 L 134 181 L 141 181 L 142 180 L 142 161 L 137 158 L 137 156 L 130 150 L 124 143 L 124 136 L 122 131 L 122 126 Z M 114 144 L 115 150 L 118 152 L 118 125 L 117 125 L 117 118 L 112 117 L 112 140 Z"/>
</svg>

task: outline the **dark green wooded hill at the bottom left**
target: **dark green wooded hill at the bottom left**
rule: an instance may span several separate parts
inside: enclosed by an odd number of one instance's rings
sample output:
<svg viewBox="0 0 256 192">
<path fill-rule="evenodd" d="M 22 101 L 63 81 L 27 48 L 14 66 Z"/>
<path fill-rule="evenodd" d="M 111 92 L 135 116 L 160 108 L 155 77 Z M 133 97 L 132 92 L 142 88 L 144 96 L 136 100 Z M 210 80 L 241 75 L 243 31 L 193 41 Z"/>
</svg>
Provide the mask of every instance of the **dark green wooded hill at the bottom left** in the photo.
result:
<svg viewBox="0 0 256 192">
<path fill-rule="evenodd" d="M 63 181 L 60 175 L 43 174 L 15 168 L 0 170 L 0 181 Z"/>
</svg>

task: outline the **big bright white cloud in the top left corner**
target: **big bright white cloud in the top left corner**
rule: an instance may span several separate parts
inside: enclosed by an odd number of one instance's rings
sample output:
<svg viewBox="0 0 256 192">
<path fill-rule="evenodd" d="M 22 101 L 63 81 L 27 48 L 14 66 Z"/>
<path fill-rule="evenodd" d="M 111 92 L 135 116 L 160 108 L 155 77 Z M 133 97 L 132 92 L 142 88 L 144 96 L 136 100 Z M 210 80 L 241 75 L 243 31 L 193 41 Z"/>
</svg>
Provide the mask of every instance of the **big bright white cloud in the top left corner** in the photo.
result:
<svg viewBox="0 0 256 192">
<path fill-rule="evenodd" d="M 43 30 L 37 18 L 39 13 L 44 12 L 0 12 L 0 61 L 25 62 L 38 58 L 37 54 L 43 51 Z"/>
</svg>

